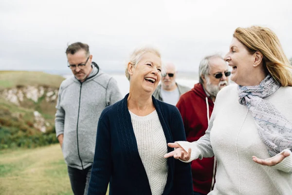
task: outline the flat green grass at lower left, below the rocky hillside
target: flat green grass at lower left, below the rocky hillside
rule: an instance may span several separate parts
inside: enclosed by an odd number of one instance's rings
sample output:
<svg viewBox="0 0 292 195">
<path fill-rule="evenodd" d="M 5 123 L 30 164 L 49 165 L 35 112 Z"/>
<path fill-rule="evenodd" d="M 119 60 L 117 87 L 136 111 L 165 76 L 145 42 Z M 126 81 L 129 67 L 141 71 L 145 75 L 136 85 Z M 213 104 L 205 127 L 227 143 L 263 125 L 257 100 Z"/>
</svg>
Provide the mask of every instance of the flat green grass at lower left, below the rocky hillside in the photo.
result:
<svg viewBox="0 0 292 195">
<path fill-rule="evenodd" d="M 73 195 L 60 145 L 0 151 L 0 195 Z"/>
</svg>

